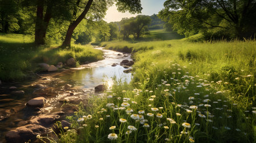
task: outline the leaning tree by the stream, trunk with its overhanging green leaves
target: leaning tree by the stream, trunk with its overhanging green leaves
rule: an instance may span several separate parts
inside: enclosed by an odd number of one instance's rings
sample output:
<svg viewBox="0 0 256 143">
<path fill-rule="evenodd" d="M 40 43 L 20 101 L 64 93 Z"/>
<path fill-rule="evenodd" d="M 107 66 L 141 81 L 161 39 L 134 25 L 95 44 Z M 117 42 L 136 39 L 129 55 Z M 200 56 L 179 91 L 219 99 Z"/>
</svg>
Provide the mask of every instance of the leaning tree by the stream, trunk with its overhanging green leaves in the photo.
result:
<svg viewBox="0 0 256 143">
<path fill-rule="evenodd" d="M 135 12 L 141 12 L 142 10 L 140 0 L 109 0 L 109 1 L 88 0 L 86 2 L 77 0 L 76 6 L 82 9 L 82 12 L 79 16 L 77 16 L 77 13 L 79 13 L 79 9 L 75 9 L 73 11 L 74 19 L 69 24 L 67 34 L 65 36 L 65 40 L 63 41 L 63 44 L 61 47 L 70 47 L 73 31 L 75 30 L 77 25 L 82 21 L 82 19 L 85 18 L 88 12 L 89 12 L 88 17 L 90 19 L 93 19 L 93 18 L 96 20 L 101 19 L 105 15 L 108 7 L 113 5 L 114 1 L 117 2 L 116 5 L 118 7 L 118 11 L 121 11 L 121 12 L 129 11 L 131 13 L 135 13 Z M 90 9 L 91 6 L 93 7 L 93 9 Z"/>
</svg>

